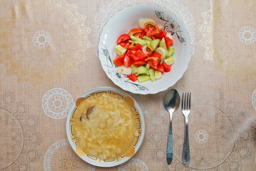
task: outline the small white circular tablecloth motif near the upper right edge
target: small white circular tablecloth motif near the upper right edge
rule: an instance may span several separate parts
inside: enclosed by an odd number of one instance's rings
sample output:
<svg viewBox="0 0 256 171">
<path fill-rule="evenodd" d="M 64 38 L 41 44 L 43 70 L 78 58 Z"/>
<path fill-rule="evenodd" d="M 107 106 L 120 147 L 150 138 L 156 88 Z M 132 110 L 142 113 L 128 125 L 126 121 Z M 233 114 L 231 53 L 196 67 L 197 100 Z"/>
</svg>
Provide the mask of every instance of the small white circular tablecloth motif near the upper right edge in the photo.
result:
<svg viewBox="0 0 256 171">
<path fill-rule="evenodd" d="M 250 45 L 256 41 L 256 30 L 250 26 L 244 26 L 238 32 L 238 38 L 242 43 Z"/>
</svg>

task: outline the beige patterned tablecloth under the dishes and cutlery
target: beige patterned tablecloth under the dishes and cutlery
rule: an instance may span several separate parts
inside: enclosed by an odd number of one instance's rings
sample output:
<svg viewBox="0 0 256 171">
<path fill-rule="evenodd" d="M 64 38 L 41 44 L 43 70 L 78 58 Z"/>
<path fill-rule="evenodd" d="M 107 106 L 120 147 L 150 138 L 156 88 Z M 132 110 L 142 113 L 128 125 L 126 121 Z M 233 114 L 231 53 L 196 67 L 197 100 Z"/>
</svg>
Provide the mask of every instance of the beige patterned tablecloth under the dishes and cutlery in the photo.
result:
<svg viewBox="0 0 256 171">
<path fill-rule="evenodd" d="M 149 0 L 183 22 L 191 61 L 173 88 L 192 93 L 191 162 L 181 162 L 184 118 L 174 114 L 174 159 L 166 163 L 166 91 L 129 93 L 146 121 L 131 160 L 100 168 L 73 152 L 65 123 L 87 90 L 117 88 L 100 66 L 106 21 L 143 0 L 0 1 L 0 170 L 256 170 L 256 1 Z"/>
</svg>

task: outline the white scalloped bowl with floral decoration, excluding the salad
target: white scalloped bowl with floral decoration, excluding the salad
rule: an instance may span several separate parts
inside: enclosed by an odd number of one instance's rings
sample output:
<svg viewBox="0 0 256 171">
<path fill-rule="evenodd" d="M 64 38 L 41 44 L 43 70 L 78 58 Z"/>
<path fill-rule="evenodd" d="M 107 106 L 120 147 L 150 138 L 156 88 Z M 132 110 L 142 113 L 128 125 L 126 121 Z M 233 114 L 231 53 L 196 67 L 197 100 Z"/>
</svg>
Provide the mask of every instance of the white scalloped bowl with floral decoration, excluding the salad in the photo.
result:
<svg viewBox="0 0 256 171">
<path fill-rule="evenodd" d="M 176 63 L 169 73 L 164 73 L 158 81 L 132 82 L 127 76 L 120 74 L 113 63 L 117 54 L 114 47 L 117 46 L 117 38 L 123 33 L 128 33 L 132 28 L 139 28 L 139 19 L 154 19 L 157 25 L 172 34 L 175 48 L 174 58 Z M 166 90 L 183 76 L 191 59 L 191 43 L 186 28 L 180 19 L 171 11 L 155 4 L 134 4 L 117 11 L 105 24 L 100 34 L 99 57 L 102 68 L 114 84 L 132 93 L 154 94 Z"/>
</svg>

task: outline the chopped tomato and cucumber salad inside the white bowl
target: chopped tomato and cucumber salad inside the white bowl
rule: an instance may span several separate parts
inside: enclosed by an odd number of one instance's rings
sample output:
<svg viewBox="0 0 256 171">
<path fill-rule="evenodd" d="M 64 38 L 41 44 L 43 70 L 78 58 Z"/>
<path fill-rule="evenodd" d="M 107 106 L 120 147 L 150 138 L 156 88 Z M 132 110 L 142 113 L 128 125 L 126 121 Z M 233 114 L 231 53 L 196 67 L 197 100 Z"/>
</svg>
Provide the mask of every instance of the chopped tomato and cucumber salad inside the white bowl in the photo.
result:
<svg viewBox="0 0 256 171">
<path fill-rule="evenodd" d="M 174 41 L 152 19 L 139 19 L 139 27 L 119 36 L 113 62 L 131 81 L 159 80 L 175 62 Z"/>
</svg>

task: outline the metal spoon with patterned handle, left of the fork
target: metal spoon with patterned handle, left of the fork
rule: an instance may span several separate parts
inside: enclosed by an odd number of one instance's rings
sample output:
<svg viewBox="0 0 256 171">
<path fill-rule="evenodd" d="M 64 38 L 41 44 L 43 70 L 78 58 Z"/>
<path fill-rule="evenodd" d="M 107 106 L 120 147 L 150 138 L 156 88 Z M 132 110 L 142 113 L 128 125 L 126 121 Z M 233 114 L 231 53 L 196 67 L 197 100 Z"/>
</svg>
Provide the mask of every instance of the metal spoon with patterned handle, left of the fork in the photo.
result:
<svg viewBox="0 0 256 171">
<path fill-rule="evenodd" d="M 166 152 L 166 160 L 168 165 L 171 164 L 171 160 L 173 157 L 171 119 L 175 110 L 178 109 L 179 104 L 180 104 L 180 96 L 178 94 L 178 91 L 175 89 L 169 90 L 166 93 L 166 96 L 164 97 L 164 108 L 170 113 L 169 138 L 168 138 L 167 152 Z"/>
</svg>

